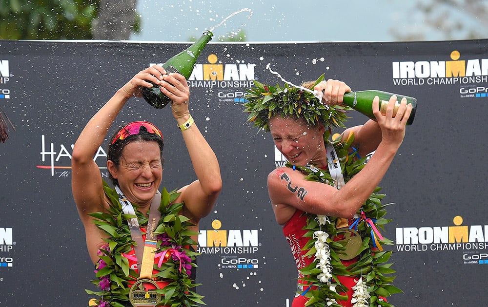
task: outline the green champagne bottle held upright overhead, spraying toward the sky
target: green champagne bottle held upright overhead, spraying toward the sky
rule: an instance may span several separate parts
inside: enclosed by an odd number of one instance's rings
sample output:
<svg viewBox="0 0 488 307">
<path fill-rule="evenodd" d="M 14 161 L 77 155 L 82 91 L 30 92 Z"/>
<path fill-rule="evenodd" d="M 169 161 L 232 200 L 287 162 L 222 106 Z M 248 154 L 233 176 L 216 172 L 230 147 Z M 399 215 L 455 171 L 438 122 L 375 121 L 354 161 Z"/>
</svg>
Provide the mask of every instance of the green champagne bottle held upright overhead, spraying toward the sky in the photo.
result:
<svg viewBox="0 0 488 307">
<path fill-rule="evenodd" d="M 203 35 L 190 47 L 186 48 L 179 54 L 169 58 L 164 64 L 163 68 L 168 74 L 178 73 L 188 79 L 193 71 L 193 67 L 197 62 L 197 58 L 203 50 L 207 42 L 212 39 L 213 33 L 210 31 L 203 32 Z M 153 84 L 153 87 L 144 87 L 142 89 L 142 97 L 156 109 L 163 109 L 171 102 L 166 95 L 161 93 L 159 86 Z"/>
</svg>

